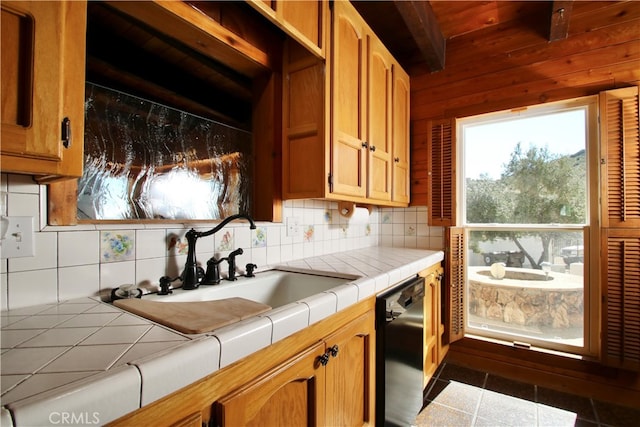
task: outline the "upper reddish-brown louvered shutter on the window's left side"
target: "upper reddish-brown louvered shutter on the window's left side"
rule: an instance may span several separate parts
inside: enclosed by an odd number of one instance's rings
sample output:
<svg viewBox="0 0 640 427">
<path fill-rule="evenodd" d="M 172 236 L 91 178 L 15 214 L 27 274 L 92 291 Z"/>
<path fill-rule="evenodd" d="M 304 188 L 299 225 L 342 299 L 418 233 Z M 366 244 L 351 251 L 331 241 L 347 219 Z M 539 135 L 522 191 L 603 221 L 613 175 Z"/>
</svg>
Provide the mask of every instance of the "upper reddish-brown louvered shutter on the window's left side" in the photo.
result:
<svg viewBox="0 0 640 427">
<path fill-rule="evenodd" d="M 429 225 L 456 225 L 455 120 L 429 122 L 427 133 L 427 187 Z"/>
</svg>

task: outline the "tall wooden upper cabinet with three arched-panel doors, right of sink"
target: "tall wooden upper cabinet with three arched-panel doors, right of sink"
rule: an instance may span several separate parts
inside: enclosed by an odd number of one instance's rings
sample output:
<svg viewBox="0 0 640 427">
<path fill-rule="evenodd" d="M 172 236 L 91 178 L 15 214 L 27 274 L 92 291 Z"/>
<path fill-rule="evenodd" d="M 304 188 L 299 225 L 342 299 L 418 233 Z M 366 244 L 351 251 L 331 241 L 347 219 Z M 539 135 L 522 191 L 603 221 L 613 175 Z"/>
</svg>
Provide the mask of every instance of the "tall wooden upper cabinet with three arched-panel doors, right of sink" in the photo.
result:
<svg viewBox="0 0 640 427">
<path fill-rule="evenodd" d="M 407 206 L 409 77 L 348 1 L 331 24 L 324 61 L 286 43 L 283 198 Z"/>
</svg>

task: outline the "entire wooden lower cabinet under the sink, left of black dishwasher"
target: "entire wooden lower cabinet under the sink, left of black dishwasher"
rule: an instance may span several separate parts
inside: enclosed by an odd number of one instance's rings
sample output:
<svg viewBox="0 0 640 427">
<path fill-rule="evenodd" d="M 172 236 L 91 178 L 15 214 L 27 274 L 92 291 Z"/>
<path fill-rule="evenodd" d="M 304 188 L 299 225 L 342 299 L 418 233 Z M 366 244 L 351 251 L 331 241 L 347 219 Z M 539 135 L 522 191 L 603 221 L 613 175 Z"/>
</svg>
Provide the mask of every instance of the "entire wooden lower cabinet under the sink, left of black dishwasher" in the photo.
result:
<svg viewBox="0 0 640 427">
<path fill-rule="evenodd" d="M 363 300 L 109 425 L 373 425 L 374 308 Z"/>
</svg>

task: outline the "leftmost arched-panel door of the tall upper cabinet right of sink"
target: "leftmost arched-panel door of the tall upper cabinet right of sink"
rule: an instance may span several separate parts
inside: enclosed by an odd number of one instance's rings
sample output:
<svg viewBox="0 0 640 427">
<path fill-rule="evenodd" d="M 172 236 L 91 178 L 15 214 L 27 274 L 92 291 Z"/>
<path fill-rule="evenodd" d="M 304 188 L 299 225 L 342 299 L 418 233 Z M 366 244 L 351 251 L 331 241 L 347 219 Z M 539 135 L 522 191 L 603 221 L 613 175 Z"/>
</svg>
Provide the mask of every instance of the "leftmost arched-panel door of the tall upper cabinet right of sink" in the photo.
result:
<svg viewBox="0 0 640 427">
<path fill-rule="evenodd" d="M 345 1 L 335 2 L 333 19 L 331 192 L 364 198 L 367 26 Z"/>
</svg>

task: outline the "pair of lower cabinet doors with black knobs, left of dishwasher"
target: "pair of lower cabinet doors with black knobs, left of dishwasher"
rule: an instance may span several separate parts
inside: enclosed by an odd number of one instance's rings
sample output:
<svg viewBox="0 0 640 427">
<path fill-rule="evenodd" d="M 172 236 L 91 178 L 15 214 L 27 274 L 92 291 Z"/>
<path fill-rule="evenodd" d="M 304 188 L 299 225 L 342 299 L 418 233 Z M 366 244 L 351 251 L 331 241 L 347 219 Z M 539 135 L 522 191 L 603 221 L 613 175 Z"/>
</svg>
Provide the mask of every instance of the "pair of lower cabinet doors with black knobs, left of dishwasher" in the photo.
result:
<svg viewBox="0 0 640 427">
<path fill-rule="evenodd" d="M 214 404 L 218 426 L 361 426 L 373 420 L 373 313 Z"/>
</svg>

